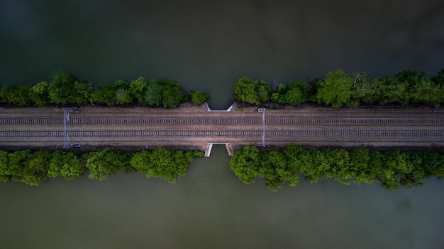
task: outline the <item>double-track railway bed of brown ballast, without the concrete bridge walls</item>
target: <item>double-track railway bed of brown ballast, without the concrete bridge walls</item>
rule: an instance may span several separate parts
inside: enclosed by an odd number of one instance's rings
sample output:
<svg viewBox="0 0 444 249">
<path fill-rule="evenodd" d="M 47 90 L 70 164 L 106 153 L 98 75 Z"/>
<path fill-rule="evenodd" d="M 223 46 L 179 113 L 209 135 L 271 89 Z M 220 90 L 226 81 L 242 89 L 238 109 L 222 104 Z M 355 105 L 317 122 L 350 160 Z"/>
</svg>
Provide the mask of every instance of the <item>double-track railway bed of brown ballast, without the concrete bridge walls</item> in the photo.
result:
<svg viewBox="0 0 444 249">
<path fill-rule="evenodd" d="M 444 115 L 409 112 L 64 112 L 13 113 L 0 116 L 0 145 L 65 148 L 82 143 L 133 146 L 232 142 L 236 145 L 301 144 L 444 144 Z M 70 114 L 72 113 L 72 114 Z M 214 114 L 216 113 L 216 114 Z M 63 114 L 63 115 L 62 115 Z M 1 115 L 1 113 L 0 113 Z M 145 146 L 145 145 L 144 145 Z"/>
</svg>

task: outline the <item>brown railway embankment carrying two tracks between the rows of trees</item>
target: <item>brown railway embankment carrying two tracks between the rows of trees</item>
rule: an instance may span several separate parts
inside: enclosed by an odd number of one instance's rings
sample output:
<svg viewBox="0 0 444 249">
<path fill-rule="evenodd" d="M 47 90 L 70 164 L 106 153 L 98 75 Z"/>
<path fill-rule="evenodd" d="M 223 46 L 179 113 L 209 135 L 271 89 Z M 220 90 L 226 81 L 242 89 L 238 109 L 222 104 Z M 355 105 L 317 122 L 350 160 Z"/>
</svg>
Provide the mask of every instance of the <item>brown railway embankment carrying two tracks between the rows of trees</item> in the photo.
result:
<svg viewBox="0 0 444 249">
<path fill-rule="evenodd" d="M 281 106 L 259 112 L 233 105 L 209 112 L 208 105 L 179 108 L 0 108 L 1 149 L 71 147 L 146 149 L 164 146 L 206 151 L 207 144 L 279 148 L 384 147 L 440 149 L 444 112 L 430 108 L 332 109 Z M 72 148 L 74 149 L 74 148 Z M 76 148 L 77 149 L 77 148 Z M 228 150 L 229 151 L 229 150 Z"/>
</svg>

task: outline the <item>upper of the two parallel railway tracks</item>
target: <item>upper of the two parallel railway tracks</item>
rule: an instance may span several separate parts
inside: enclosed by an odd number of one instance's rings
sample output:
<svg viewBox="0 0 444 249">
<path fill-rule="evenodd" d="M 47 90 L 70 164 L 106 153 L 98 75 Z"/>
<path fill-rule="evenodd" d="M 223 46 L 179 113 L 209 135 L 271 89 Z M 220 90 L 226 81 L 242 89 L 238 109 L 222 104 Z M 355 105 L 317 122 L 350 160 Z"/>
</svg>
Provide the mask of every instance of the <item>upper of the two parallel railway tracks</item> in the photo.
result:
<svg viewBox="0 0 444 249">
<path fill-rule="evenodd" d="M 436 126 L 444 117 L 266 117 L 265 125 Z M 257 117 L 70 117 L 68 125 L 262 125 Z M 62 117 L 0 117 L 0 125 L 63 125 Z"/>
</svg>

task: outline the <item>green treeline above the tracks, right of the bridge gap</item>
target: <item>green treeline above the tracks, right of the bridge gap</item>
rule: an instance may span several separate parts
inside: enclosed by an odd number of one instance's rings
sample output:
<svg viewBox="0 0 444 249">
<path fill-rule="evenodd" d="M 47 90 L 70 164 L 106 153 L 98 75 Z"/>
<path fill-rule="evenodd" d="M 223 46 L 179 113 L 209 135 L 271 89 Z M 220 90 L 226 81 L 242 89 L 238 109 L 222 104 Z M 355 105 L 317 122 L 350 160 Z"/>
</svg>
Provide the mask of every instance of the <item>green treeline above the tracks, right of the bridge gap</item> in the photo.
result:
<svg viewBox="0 0 444 249">
<path fill-rule="evenodd" d="M 366 104 L 426 104 L 435 107 L 444 103 L 444 69 L 433 77 L 425 71 L 404 70 L 392 76 L 369 79 L 367 73 L 329 72 L 322 80 L 274 84 L 248 77 L 238 80 L 233 89 L 235 100 L 259 105 L 267 101 L 299 105 L 306 101 L 331 105 L 333 108 L 355 108 Z"/>
</svg>

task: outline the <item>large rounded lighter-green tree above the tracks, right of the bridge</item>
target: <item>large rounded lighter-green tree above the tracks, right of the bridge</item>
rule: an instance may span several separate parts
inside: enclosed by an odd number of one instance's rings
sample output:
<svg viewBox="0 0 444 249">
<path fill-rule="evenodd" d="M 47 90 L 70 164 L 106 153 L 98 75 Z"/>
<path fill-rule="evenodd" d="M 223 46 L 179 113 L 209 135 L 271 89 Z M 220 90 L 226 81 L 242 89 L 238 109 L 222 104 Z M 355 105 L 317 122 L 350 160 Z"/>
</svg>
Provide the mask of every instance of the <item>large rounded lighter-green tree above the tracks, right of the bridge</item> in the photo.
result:
<svg viewBox="0 0 444 249">
<path fill-rule="evenodd" d="M 331 105 L 333 108 L 343 106 L 356 107 L 357 101 L 352 100 L 353 79 L 342 70 L 331 71 L 323 81 L 318 81 L 318 103 Z"/>
</svg>

